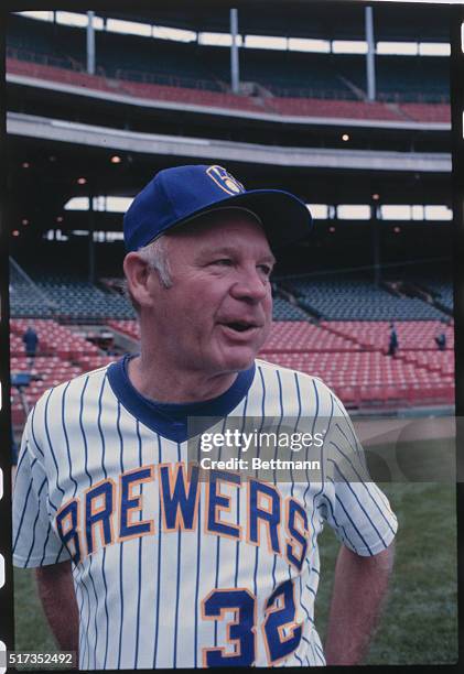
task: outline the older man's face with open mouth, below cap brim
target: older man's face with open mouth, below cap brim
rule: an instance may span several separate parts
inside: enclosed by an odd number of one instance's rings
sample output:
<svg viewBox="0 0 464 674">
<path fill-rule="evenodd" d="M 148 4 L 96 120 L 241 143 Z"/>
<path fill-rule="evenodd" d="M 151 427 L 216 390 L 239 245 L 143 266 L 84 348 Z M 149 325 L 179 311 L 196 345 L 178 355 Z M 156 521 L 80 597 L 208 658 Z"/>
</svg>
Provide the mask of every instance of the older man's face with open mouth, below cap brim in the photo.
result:
<svg viewBox="0 0 464 674">
<path fill-rule="evenodd" d="M 174 231 L 166 243 L 173 285 L 152 280 L 151 312 L 166 358 L 209 374 L 250 367 L 272 320 L 274 258 L 261 226 L 224 210 Z"/>
</svg>

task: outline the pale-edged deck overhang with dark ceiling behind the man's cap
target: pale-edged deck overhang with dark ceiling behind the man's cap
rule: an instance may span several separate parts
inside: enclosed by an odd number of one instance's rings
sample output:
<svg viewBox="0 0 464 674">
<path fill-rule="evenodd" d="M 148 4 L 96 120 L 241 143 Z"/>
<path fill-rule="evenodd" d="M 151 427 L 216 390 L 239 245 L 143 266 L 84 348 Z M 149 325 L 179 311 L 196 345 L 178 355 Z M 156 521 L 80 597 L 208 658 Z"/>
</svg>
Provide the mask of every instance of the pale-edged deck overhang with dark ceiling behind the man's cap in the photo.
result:
<svg viewBox="0 0 464 674">
<path fill-rule="evenodd" d="M 451 160 L 418 153 L 292 149 L 157 138 L 26 116 L 8 121 L 9 216 L 57 227 L 75 196 L 132 196 L 154 173 L 181 163 L 224 163 L 247 187 L 289 189 L 307 203 L 365 204 L 373 193 L 390 204 L 446 204 Z M 199 142 L 202 141 L 202 142 Z M 119 163 L 112 163 L 117 155 Z M 26 164 L 24 166 L 24 164 Z M 79 184 L 79 178 L 85 183 Z M 66 211 L 61 227 L 78 228 L 86 213 Z M 120 229 L 120 215 L 96 214 L 99 229 Z"/>
</svg>

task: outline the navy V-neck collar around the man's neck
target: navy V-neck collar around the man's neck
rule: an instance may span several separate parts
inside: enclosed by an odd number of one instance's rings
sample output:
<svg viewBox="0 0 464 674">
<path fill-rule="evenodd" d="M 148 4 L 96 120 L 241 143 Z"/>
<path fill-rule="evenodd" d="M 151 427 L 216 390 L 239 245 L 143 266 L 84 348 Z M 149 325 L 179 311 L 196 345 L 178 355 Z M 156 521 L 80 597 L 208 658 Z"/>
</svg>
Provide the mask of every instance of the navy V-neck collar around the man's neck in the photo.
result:
<svg viewBox="0 0 464 674">
<path fill-rule="evenodd" d="M 231 387 L 217 398 L 192 403 L 161 403 L 144 398 L 130 382 L 127 366 L 133 357 L 127 354 L 109 366 L 110 387 L 121 404 L 136 418 L 176 443 L 183 443 L 188 437 L 188 416 L 227 416 L 247 394 L 255 377 L 253 363 L 248 370 L 239 372 Z"/>
</svg>

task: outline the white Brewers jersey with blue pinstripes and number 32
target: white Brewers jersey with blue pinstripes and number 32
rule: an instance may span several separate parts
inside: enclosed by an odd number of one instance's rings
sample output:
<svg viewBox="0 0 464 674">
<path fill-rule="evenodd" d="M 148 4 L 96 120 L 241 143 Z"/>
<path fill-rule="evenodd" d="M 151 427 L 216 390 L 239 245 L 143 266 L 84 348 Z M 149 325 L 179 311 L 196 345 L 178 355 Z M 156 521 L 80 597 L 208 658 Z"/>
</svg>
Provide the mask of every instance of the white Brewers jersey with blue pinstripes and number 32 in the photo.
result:
<svg viewBox="0 0 464 674">
<path fill-rule="evenodd" d="M 80 668 L 325 664 L 313 619 L 317 534 L 327 522 L 359 555 L 377 554 L 397 529 L 388 500 L 343 475 L 195 482 L 182 467 L 186 413 L 307 417 L 313 430 L 328 425 L 335 461 L 349 446 L 362 455 L 319 379 L 257 360 L 215 401 L 155 405 L 121 360 L 51 389 L 30 414 L 14 564 L 73 558 Z M 278 522 L 265 514 L 273 507 Z"/>
</svg>

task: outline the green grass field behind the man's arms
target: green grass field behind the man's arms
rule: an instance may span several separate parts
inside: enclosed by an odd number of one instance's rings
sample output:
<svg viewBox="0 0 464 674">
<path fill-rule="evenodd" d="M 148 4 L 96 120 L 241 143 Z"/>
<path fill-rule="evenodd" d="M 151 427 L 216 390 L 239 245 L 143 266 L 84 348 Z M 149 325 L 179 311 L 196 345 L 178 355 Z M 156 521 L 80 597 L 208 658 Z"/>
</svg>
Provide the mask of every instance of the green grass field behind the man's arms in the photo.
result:
<svg viewBox="0 0 464 674">
<path fill-rule="evenodd" d="M 389 598 L 366 664 L 436 664 L 457 660 L 456 501 L 451 483 L 381 485 L 398 515 Z M 320 537 L 315 618 L 325 633 L 338 542 Z M 17 650 L 54 650 L 33 572 L 15 570 Z"/>
</svg>

